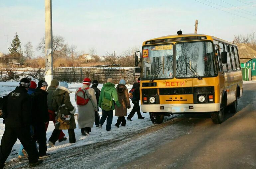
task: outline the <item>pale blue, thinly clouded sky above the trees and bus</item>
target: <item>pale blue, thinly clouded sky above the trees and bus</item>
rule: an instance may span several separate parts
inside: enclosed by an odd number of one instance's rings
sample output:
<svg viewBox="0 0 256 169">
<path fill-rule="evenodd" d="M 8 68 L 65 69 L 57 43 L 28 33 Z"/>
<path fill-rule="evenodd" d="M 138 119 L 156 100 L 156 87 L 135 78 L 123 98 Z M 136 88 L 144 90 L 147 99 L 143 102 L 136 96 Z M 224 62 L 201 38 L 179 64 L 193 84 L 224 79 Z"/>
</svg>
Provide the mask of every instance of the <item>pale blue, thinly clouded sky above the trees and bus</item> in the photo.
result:
<svg viewBox="0 0 256 169">
<path fill-rule="evenodd" d="M 197 33 L 228 41 L 234 34 L 256 31 L 256 0 L 223 1 L 52 0 L 53 34 L 77 45 L 77 51 L 94 47 L 103 56 L 141 47 L 145 40 L 176 34 L 179 29 L 193 33 L 195 19 Z M 0 0 L 0 11 L 0 52 L 7 53 L 5 35 L 10 47 L 17 32 L 23 48 L 31 41 L 35 56 L 43 56 L 36 46 L 45 34 L 45 1 Z"/>
</svg>

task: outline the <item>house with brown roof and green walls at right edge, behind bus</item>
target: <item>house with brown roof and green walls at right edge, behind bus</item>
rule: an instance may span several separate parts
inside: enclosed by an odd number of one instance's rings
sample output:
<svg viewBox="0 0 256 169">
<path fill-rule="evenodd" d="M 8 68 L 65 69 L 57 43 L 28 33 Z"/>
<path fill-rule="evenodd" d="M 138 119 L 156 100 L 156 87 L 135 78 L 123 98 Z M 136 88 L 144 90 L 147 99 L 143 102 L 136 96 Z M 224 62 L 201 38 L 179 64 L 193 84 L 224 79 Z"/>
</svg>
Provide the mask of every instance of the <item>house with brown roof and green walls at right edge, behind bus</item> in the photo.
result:
<svg viewBox="0 0 256 169">
<path fill-rule="evenodd" d="M 251 69 L 251 78 L 256 80 L 256 51 L 247 46 L 244 43 L 236 44 L 238 47 L 239 60 L 241 68 L 250 68 Z"/>
</svg>

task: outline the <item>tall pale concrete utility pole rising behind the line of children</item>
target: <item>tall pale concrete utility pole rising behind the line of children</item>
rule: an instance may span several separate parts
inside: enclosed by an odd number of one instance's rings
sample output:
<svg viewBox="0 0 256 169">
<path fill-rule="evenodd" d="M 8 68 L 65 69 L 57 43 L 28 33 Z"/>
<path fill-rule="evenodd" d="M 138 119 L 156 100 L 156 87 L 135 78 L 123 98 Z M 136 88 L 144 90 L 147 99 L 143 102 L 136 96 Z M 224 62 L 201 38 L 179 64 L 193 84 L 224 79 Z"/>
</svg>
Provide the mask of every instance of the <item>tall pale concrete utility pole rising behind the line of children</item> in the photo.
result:
<svg viewBox="0 0 256 169">
<path fill-rule="evenodd" d="M 45 0 L 45 81 L 53 80 L 53 22 L 52 0 Z"/>
</svg>

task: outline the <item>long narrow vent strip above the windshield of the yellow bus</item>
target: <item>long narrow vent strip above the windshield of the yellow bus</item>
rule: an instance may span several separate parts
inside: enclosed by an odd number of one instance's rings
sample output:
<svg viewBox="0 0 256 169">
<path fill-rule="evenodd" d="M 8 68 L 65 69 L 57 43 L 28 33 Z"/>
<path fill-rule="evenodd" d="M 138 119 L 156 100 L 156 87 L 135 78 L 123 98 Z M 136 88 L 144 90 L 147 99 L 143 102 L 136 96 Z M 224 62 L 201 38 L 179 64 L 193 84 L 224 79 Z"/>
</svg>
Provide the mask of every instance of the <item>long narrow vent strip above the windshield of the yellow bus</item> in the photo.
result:
<svg viewBox="0 0 256 169">
<path fill-rule="evenodd" d="M 187 36 L 187 37 L 175 37 L 175 38 L 168 38 L 168 39 L 156 39 L 156 40 L 147 41 L 149 43 L 146 42 L 146 44 L 200 40 L 200 37 L 205 37 L 205 36 Z M 205 39 L 206 39 L 206 37 L 205 37 Z"/>
</svg>

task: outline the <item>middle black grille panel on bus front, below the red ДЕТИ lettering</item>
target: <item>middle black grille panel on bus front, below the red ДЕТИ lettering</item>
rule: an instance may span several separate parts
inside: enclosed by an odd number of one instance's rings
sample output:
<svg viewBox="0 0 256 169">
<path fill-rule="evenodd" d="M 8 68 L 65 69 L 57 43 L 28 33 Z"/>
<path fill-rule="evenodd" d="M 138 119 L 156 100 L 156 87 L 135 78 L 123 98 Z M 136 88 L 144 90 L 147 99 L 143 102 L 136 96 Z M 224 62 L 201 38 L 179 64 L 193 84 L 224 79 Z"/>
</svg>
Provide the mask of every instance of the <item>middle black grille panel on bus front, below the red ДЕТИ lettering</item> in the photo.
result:
<svg viewBox="0 0 256 169">
<path fill-rule="evenodd" d="M 192 94 L 192 87 L 159 88 L 160 95 Z"/>
</svg>

